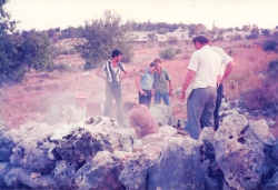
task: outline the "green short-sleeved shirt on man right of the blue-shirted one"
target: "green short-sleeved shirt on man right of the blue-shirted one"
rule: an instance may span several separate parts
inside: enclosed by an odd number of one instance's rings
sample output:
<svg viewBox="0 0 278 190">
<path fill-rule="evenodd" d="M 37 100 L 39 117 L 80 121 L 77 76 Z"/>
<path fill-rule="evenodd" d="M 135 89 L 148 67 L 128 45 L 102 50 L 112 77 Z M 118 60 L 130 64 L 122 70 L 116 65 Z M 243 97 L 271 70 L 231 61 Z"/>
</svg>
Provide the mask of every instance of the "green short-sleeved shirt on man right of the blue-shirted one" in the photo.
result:
<svg viewBox="0 0 278 190">
<path fill-rule="evenodd" d="M 159 76 L 158 72 L 153 73 L 153 87 L 156 89 L 156 92 L 159 93 L 168 93 L 168 86 L 167 86 L 167 81 L 170 81 L 170 76 L 168 73 L 168 71 L 166 69 L 162 68 L 161 70 L 161 74 Z"/>
</svg>

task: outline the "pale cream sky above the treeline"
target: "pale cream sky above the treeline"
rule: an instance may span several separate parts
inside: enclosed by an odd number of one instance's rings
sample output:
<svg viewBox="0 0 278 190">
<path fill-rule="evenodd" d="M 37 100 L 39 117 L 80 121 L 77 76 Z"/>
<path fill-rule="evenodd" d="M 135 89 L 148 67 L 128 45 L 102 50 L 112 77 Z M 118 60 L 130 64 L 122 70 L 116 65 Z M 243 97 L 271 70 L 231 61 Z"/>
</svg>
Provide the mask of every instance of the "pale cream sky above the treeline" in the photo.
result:
<svg viewBox="0 0 278 190">
<path fill-rule="evenodd" d="M 4 4 L 19 30 L 83 26 L 112 10 L 137 22 L 202 23 L 208 29 L 278 26 L 278 0 L 9 0 Z"/>
</svg>

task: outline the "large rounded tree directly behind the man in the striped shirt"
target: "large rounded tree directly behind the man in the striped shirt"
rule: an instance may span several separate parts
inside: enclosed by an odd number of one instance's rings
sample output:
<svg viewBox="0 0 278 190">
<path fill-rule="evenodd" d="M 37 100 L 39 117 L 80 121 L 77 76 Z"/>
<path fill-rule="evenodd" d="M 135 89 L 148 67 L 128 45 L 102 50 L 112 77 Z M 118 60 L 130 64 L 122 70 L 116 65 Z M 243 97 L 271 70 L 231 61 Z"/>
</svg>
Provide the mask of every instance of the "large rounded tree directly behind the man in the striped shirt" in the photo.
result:
<svg viewBox="0 0 278 190">
<path fill-rule="evenodd" d="M 129 61 L 132 57 L 131 22 L 122 23 L 121 17 L 110 10 L 106 10 L 101 19 L 86 22 L 81 29 L 86 38 L 86 43 L 78 43 L 77 50 L 81 52 L 86 62 L 91 61 L 98 64 L 111 58 L 113 49 L 119 49 L 123 53 L 122 61 Z"/>
</svg>

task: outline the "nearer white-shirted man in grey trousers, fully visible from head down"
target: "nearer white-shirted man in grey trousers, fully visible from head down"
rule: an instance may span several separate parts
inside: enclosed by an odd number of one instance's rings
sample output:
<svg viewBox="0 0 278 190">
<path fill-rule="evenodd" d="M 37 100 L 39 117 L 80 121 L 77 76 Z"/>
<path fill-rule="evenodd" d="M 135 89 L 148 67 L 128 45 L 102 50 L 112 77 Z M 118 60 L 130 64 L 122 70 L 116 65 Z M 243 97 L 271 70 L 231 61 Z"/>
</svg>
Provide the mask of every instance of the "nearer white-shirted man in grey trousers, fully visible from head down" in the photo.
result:
<svg viewBox="0 0 278 190">
<path fill-rule="evenodd" d="M 221 58 L 210 48 L 205 36 L 193 38 L 196 51 L 188 64 L 180 100 L 185 101 L 185 92 L 191 84 L 191 93 L 187 101 L 188 130 L 190 137 L 198 139 L 201 127 L 214 127 L 214 111 L 217 99 L 217 78 L 221 76 Z"/>
</svg>

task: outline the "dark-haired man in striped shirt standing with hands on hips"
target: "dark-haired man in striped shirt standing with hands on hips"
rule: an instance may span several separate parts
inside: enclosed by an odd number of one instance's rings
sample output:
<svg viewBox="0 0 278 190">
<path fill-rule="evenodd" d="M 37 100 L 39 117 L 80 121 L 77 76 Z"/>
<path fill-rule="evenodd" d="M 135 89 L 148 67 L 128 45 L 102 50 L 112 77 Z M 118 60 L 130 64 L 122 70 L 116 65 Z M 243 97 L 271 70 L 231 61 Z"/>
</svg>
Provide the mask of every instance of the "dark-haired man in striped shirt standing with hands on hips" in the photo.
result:
<svg viewBox="0 0 278 190">
<path fill-rule="evenodd" d="M 122 117 L 122 92 L 121 92 L 121 80 L 127 78 L 128 71 L 120 62 L 122 59 L 122 53 L 120 50 L 112 51 L 112 59 L 108 60 L 102 69 L 96 71 L 96 76 L 106 80 L 106 106 L 105 106 L 105 116 L 110 117 L 110 109 L 112 106 L 113 99 L 116 100 L 117 106 L 117 119 L 118 123 L 123 123 Z M 105 74 L 103 74 L 105 72 Z M 121 72 L 123 74 L 121 74 Z"/>
</svg>

